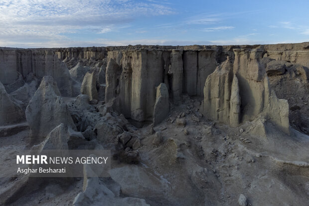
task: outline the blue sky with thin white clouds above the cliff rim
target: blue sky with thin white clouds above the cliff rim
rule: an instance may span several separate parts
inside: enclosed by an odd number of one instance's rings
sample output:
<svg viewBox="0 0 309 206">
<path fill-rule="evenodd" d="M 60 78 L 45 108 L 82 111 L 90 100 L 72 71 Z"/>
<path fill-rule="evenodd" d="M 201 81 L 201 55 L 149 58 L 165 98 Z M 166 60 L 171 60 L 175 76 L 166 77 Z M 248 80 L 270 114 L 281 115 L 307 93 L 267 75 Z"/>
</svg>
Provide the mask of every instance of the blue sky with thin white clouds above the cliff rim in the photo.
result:
<svg viewBox="0 0 309 206">
<path fill-rule="evenodd" d="M 308 0 L 0 0 L 0 46 L 309 41 Z"/>
</svg>

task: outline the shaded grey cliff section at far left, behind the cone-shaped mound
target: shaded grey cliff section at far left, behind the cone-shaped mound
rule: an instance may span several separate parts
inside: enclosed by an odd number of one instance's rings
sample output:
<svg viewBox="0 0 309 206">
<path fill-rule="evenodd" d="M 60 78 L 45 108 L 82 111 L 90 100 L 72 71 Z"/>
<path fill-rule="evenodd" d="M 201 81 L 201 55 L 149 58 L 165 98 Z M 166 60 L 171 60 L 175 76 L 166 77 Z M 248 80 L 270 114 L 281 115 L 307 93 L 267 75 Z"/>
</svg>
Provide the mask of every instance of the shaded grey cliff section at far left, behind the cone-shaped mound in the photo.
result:
<svg viewBox="0 0 309 206">
<path fill-rule="evenodd" d="M 37 78 L 52 76 L 63 96 L 72 95 L 70 73 L 52 49 L 0 49 L 0 81 L 3 85 L 18 80 L 18 72 L 25 78 L 33 73 Z"/>
</svg>

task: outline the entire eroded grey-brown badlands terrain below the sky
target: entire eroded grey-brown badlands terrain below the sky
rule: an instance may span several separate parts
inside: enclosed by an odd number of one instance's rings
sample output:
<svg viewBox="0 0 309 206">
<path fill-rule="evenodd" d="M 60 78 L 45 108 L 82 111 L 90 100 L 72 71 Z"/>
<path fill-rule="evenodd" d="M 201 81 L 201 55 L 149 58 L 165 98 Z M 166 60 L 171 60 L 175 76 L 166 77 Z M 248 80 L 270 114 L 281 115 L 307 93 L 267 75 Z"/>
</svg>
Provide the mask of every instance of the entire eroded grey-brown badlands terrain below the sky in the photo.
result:
<svg viewBox="0 0 309 206">
<path fill-rule="evenodd" d="M 0 48 L 2 176 L 26 146 L 112 159 L 111 178 L 1 178 L 0 205 L 307 206 L 308 49 Z"/>
</svg>

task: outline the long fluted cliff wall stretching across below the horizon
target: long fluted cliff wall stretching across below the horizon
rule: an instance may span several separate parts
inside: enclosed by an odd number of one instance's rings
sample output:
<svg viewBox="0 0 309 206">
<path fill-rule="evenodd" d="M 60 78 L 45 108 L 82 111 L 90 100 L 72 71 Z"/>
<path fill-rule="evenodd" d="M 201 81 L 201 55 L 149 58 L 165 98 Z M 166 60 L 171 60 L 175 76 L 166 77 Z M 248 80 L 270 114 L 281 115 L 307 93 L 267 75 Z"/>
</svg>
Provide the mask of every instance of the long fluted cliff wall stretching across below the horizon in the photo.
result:
<svg viewBox="0 0 309 206">
<path fill-rule="evenodd" d="M 9 85 L 20 80 L 20 75 L 21 81 L 31 73 L 38 79 L 52 76 L 62 96 L 76 96 L 72 81 L 84 76 L 72 78 L 69 69 L 83 61 L 83 65 L 100 71 L 100 78 L 96 83 L 92 80 L 91 85 L 80 82 L 81 91 L 83 87 L 89 87 L 89 91 L 104 87 L 105 102 L 113 101 L 115 109 L 126 118 L 152 120 L 156 87 L 164 83 L 170 104 L 180 104 L 182 95 L 186 94 L 202 100 L 200 112 L 209 119 L 237 127 L 261 117 L 289 133 L 289 105 L 270 88 L 266 67 L 271 60 L 300 65 L 307 81 L 308 57 L 308 42 L 251 46 L 0 48 L 0 82 L 8 90 Z M 102 81 L 102 71 L 105 71 L 105 81 Z"/>
</svg>

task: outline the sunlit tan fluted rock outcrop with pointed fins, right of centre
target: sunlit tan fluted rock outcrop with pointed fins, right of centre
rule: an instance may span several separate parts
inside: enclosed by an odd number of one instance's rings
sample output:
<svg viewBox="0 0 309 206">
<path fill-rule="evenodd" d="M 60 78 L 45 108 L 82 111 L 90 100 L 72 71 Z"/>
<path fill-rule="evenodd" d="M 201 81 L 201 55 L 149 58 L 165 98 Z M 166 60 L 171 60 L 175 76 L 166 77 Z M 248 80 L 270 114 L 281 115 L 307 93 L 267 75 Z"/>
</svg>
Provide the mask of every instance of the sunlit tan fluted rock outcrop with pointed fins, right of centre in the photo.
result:
<svg viewBox="0 0 309 206">
<path fill-rule="evenodd" d="M 233 127 L 262 114 L 289 134 L 289 106 L 271 91 L 265 65 L 260 62 L 262 51 L 234 49 L 234 53 L 233 64 L 228 58 L 207 77 L 202 113 Z"/>
</svg>

